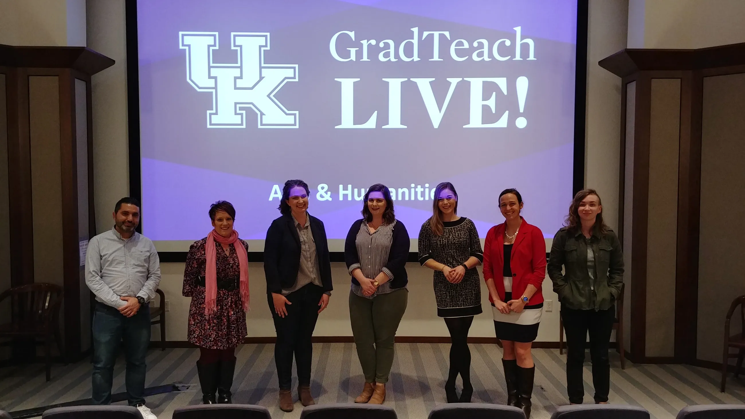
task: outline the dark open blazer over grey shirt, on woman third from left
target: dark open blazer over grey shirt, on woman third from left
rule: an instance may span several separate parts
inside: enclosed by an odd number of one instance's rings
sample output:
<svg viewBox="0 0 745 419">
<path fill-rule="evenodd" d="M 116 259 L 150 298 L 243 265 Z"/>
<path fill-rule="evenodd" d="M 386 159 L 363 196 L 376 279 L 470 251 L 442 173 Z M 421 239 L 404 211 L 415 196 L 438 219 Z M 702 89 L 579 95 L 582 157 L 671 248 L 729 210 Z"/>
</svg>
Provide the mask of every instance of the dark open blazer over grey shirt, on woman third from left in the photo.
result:
<svg viewBox="0 0 745 419">
<path fill-rule="evenodd" d="M 311 233 L 316 243 L 318 270 L 324 291 L 334 289 L 331 281 L 331 260 L 329 243 L 326 240 L 326 228 L 323 222 L 308 214 L 311 219 Z M 297 281 L 300 270 L 300 236 L 292 215 L 287 214 L 272 222 L 267 230 L 264 243 L 264 274 L 267 277 L 267 293 L 282 292 L 291 288 Z"/>
</svg>

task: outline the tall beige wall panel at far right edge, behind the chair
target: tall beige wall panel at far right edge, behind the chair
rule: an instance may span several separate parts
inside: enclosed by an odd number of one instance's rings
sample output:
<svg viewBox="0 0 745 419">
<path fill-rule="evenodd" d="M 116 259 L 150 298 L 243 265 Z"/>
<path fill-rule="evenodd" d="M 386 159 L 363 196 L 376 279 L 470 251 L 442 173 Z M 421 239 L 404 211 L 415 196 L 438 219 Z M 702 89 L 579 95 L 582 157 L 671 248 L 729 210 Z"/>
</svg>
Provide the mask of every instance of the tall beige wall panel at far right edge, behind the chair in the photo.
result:
<svg viewBox="0 0 745 419">
<path fill-rule="evenodd" d="M 705 77 L 697 357 L 722 362 L 724 316 L 745 295 L 745 74 Z M 739 320 L 732 334 L 739 333 Z"/>
</svg>

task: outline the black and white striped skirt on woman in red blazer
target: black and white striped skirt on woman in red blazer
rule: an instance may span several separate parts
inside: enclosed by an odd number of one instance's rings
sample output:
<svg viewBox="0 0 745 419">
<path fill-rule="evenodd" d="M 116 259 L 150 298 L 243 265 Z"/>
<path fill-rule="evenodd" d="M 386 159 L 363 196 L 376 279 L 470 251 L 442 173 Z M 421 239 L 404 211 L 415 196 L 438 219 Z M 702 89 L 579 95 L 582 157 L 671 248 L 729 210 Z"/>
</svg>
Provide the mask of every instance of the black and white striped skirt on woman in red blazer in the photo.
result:
<svg viewBox="0 0 745 419">
<path fill-rule="evenodd" d="M 510 301 L 512 296 L 512 278 L 504 277 L 504 301 Z M 497 310 L 492 303 L 494 316 L 494 331 L 499 340 L 513 342 L 533 342 L 538 336 L 538 326 L 543 313 L 543 303 L 527 305 L 521 313 L 504 314 Z"/>
</svg>

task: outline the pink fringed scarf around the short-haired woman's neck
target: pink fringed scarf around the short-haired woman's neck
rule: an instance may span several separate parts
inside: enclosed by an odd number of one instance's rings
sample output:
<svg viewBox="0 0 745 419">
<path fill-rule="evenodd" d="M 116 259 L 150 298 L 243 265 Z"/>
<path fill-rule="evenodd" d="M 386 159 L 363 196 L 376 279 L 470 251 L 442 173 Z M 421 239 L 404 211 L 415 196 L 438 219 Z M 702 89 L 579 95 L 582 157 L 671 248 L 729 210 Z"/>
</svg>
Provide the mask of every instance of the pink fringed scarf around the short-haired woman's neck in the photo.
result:
<svg viewBox="0 0 745 419">
<path fill-rule="evenodd" d="M 217 310 L 218 302 L 218 269 L 217 269 L 217 257 L 218 257 L 218 246 L 215 246 L 215 242 L 221 244 L 233 244 L 235 252 L 238 253 L 238 262 L 241 265 L 241 301 L 243 301 L 243 310 L 249 310 L 249 293 L 248 293 L 248 252 L 246 248 L 238 240 L 238 231 L 233 230 L 230 237 L 222 237 L 215 230 L 212 230 L 207 234 L 207 244 L 205 248 L 206 256 L 206 267 L 205 267 L 205 278 L 204 278 L 204 313 L 209 316 L 215 313 Z M 220 249 L 222 251 L 222 249 Z"/>
</svg>

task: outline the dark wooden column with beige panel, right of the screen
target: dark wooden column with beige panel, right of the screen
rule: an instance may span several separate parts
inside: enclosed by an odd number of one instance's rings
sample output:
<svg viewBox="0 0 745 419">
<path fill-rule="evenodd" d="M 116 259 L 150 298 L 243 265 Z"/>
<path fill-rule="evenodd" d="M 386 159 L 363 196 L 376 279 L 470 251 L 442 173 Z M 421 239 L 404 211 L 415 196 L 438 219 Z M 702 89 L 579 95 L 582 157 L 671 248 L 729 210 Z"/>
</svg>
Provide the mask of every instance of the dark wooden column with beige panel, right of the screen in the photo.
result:
<svg viewBox="0 0 745 419">
<path fill-rule="evenodd" d="M 696 363 L 703 77 L 744 72 L 745 43 L 624 49 L 599 65 L 624 86 L 619 230 L 630 313 L 624 345 L 633 362 Z"/>
</svg>

